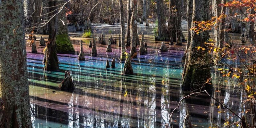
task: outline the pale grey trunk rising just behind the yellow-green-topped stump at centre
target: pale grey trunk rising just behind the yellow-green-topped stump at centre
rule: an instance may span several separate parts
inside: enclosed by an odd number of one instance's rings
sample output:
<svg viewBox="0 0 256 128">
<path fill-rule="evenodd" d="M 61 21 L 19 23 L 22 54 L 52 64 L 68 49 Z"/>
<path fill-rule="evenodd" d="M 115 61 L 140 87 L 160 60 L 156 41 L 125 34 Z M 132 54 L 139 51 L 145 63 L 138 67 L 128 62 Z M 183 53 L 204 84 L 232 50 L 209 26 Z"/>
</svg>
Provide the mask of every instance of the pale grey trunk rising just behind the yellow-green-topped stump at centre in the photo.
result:
<svg viewBox="0 0 256 128">
<path fill-rule="evenodd" d="M 138 22 L 137 22 L 137 4 L 138 4 L 138 0 L 132 0 L 132 19 L 131 19 L 131 51 L 130 54 L 132 56 L 132 58 L 137 58 L 137 51 L 136 51 L 136 46 L 137 46 L 137 42 L 139 41 L 138 38 L 138 33 L 137 33 L 137 29 L 138 29 Z"/>
</svg>

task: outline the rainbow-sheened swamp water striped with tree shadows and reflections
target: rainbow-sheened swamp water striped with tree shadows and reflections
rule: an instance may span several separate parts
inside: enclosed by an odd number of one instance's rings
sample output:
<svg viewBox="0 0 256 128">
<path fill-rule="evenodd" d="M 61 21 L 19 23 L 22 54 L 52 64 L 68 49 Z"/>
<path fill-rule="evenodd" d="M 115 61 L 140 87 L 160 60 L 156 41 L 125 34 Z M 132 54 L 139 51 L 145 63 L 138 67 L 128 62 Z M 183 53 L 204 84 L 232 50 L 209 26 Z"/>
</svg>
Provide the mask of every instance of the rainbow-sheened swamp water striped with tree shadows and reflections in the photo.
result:
<svg viewBox="0 0 256 128">
<path fill-rule="evenodd" d="M 118 26 L 118 25 L 117 25 Z M 73 33 L 75 34 L 75 33 Z M 149 35 L 152 33 L 149 33 Z M 72 35 L 72 33 L 71 33 Z M 145 36 L 147 39 L 147 36 Z M 71 38 L 72 39 L 72 38 Z M 97 44 L 98 55 L 91 56 L 85 48 L 85 61 L 77 55 L 58 54 L 60 72 L 44 72 L 43 55 L 27 52 L 31 119 L 34 127 L 70 128 L 137 128 L 168 127 L 170 112 L 185 96 L 181 89 L 182 58 L 185 46 L 171 46 L 169 52 L 158 53 L 161 43 L 148 39 L 148 54 L 132 60 L 135 75 L 121 76 L 124 63 L 106 69 L 106 60 L 119 58 L 121 50 L 112 45 L 113 52 Z M 75 49 L 78 45 L 74 44 Z M 138 49 L 137 49 L 138 50 Z M 127 47 L 127 52 L 129 48 Z M 74 92 L 59 91 L 58 87 L 69 71 L 75 84 Z M 216 75 L 216 78 L 219 76 Z M 226 83 L 215 83 L 216 99 L 241 111 L 239 95 Z M 223 85 L 223 86 L 218 86 Z M 236 97 L 238 96 L 238 98 Z M 173 113 L 172 126 L 182 128 L 186 113 L 195 127 L 222 125 L 224 113 L 206 95 L 191 96 L 181 102 Z M 229 113 L 229 116 L 232 114 Z M 232 116 L 233 117 L 233 116 Z M 233 117 L 234 118 L 234 117 Z M 234 118 L 235 119 L 235 118 Z"/>
</svg>

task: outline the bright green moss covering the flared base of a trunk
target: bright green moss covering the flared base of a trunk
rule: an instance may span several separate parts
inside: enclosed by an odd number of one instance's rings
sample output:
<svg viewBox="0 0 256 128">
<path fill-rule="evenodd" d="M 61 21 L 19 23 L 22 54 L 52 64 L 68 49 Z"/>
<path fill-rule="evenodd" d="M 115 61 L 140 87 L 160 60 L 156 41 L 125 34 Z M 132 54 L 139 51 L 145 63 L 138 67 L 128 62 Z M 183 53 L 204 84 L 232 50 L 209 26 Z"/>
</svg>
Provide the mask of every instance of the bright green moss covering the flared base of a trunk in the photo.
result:
<svg viewBox="0 0 256 128">
<path fill-rule="evenodd" d="M 56 36 L 57 53 L 72 53 L 75 52 L 73 45 L 68 38 L 68 34 Z"/>
</svg>

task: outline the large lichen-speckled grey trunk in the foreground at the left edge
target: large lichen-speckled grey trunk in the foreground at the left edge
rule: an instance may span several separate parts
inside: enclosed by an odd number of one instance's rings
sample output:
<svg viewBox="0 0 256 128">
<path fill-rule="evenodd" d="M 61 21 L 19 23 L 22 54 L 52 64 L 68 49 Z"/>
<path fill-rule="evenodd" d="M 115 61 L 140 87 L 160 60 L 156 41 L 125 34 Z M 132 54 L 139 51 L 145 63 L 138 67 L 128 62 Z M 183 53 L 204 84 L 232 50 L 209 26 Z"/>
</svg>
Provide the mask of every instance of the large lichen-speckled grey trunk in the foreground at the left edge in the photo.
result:
<svg viewBox="0 0 256 128">
<path fill-rule="evenodd" d="M 22 2 L 0 2 L 0 128 L 32 128 Z"/>
</svg>

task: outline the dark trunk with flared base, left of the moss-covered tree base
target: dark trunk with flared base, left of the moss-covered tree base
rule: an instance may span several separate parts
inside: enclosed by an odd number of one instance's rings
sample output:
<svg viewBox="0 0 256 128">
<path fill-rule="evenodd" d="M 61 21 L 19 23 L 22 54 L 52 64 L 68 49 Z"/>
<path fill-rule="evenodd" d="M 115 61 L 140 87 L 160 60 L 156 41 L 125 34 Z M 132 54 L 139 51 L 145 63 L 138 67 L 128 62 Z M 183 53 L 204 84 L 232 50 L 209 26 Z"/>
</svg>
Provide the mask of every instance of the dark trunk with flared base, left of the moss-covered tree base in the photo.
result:
<svg viewBox="0 0 256 128">
<path fill-rule="evenodd" d="M 57 1 L 49 1 L 49 6 L 56 6 L 58 5 Z M 56 7 L 52 7 L 49 9 L 49 16 L 52 16 L 56 14 Z M 56 35 L 58 31 L 58 15 L 53 17 L 52 20 L 49 22 L 49 38 L 48 42 L 46 45 L 46 61 L 45 61 L 45 66 L 44 70 L 45 71 L 59 71 L 59 60 L 57 57 L 57 52 L 56 52 Z"/>
</svg>

